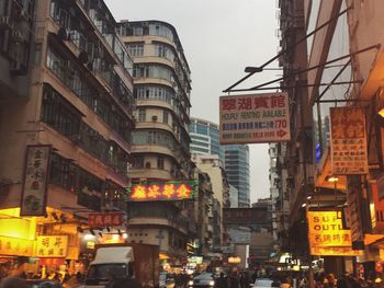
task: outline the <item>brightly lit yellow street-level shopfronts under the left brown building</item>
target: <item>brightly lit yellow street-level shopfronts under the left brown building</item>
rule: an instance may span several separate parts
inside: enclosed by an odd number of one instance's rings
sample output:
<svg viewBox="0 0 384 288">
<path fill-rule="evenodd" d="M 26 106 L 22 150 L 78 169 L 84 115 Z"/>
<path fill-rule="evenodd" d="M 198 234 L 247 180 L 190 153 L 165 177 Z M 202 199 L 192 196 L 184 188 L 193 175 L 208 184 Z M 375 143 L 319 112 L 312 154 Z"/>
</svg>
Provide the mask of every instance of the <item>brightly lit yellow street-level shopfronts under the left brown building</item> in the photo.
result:
<svg viewBox="0 0 384 288">
<path fill-rule="evenodd" d="M 84 273 L 97 244 L 127 239 L 122 226 L 92 229 L 89 224 L 50 207 L 45 217 L 20 217 L 20 208 L 0 210 L 0 275 L 45 278 Z"/>
</svg>

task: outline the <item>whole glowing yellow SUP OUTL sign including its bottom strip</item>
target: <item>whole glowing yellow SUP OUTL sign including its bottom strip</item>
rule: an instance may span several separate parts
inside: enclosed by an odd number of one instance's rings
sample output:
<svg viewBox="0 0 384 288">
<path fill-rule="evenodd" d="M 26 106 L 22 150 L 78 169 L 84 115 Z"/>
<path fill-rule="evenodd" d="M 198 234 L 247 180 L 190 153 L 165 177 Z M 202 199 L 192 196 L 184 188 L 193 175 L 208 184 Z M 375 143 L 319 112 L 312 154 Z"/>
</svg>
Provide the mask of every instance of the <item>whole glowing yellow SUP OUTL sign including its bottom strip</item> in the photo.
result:
<svg viewBox="0 0 384 288">
<path fill-rule="evenodd" d="M 351 249 L 351 231 L 342 229 L 341 211 L 308 211 L 307 219 L 313 255 L 355 254 Z"/>
</svg>

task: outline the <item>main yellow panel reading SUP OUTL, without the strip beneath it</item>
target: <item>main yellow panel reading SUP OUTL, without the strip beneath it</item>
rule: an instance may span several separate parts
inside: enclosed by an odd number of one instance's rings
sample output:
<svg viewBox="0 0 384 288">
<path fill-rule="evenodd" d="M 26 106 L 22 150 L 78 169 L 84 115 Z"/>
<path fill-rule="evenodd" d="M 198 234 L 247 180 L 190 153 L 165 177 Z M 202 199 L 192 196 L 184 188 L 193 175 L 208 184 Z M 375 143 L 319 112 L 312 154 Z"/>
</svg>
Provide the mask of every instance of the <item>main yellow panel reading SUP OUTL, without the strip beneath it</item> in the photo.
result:
<svg viewBox="0 0 384 288">
<path fill-rule="evenodd" d="M 342 229 L 341 217 L 341 211 L 308 211 L 309 245 L 351 246 L 351 231 Z"/>
</svg>

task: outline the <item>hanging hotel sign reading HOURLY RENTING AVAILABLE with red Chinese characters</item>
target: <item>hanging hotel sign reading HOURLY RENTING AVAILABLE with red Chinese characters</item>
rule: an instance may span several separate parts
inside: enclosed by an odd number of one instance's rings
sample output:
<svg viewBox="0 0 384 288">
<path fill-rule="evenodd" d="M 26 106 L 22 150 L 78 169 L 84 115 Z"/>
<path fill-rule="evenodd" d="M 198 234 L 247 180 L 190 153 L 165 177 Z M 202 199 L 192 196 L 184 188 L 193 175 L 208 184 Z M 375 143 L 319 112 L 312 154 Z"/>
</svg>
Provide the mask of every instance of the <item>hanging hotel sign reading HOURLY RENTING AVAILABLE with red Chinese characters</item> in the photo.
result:
<svg viewBox="0 0 384 288">
<path fill-rule="evenodd" d="M 290 106 L 286 92 L 219 97 L 222 145 L 287 141 Z"/>
</svg>

